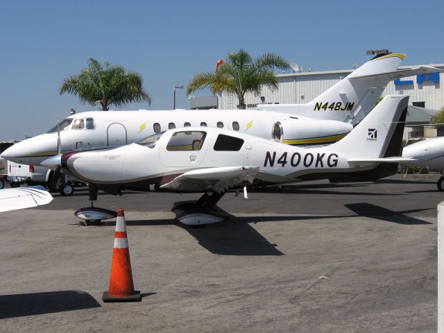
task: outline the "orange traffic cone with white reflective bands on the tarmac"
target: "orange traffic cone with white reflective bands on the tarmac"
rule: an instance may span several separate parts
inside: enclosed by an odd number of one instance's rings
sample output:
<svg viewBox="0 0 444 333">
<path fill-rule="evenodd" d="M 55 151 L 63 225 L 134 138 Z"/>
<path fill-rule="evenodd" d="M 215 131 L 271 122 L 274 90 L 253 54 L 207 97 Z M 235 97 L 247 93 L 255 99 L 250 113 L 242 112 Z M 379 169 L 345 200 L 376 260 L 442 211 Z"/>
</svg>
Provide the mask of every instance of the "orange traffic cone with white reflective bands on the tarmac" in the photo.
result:
<svg viewBox="0 0 444 333">
<path fill-rule="evenodd" d="M 125 216 L 122 209 L 117 211 L 110 287 L 108 291 L 103 293 L 102 300 L 103 302 L 140 302 L 142 300 L 140 291 L 134 290 L 130 249 L 128 248 Z"/>
</svg>

